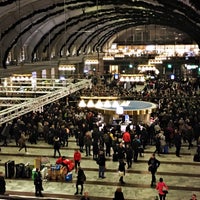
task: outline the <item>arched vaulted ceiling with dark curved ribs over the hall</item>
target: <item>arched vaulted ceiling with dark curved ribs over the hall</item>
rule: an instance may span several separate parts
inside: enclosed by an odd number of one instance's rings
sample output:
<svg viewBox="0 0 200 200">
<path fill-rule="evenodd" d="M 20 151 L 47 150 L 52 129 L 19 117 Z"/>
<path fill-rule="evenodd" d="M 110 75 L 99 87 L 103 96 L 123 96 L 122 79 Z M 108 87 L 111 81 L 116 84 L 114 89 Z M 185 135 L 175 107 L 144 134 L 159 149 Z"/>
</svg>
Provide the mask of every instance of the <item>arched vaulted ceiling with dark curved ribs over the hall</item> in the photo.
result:
<svg viewBox="0 0 200 200">
<path fill-rule="evenodd" d="M 0 62 L 9 52 L 65 49 L 69 54 L 102 50 L 117 33 L 138 25 L 169 26 L 200 45 L 198 0 L 2 0 L 0 1 Z"/>
</svg>

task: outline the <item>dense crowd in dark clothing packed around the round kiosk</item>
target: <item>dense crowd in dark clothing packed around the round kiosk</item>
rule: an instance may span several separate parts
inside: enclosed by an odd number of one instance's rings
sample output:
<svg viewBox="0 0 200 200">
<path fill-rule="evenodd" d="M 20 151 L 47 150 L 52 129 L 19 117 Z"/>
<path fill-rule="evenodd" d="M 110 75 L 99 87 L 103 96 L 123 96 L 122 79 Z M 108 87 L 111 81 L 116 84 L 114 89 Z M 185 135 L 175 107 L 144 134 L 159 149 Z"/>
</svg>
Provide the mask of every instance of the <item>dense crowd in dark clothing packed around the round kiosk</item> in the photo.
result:
<svg viewBox="0 0 200 200">
<path fill-rule="evenodd" d="M 75 137 L 80 153 L 85 152 L 85 156 L 93 156 L 98 163 L 99 178 L 105 178 L 106 157 L 112 156 L 113 150 L 119 161 L 119 182 L 122 185 L 125 184 L 125 165 L 131 168 L 132 162 L 137 162 L 138 156 L 142 156 L 146 145 L 154 145 L 155 152 L 148 162 L 153 186 L 155 173 L 160 164 L 157 160 L 156 168 L 152 168 L 152 159 L 155 159 L 156 153 L 165 153 L 166 146 L 171 148 L 174 145 L 176 156 L 180 156 L 182 142 L 187 142 L 188 149 L 193 147 L 194 142 L 199 145 L 198 87 L 190 81 L 161 80 L 155 81 L 153 89 L 147 84 L 140 91 L 135 89 L 135 85 L 124 88 L 119 82 L 95 84 L 91 89 L 74 93 L 67 102 L 66 98 L 60 99 L 46 105 L 43 112 L 31 112 L 4 124 L 1 127 L 0 140 L 3 142 L 2 145 L 6 146 L 13 138 L 19 146 L 19 151 L 24 148 L 27 152 L 27 142 L 37 144 L 38 139 L 42 138 L 54 146 L 53 156 L 56 157 L 58 153 L 60 157 L 59 149 L 68 146 L 69 137 Z M 74 101 L 74 97 L 78 100 L 82 95 L 92 96 L 96 93 L 101 96 L 112 95 L 120 96 L 122 99 L 151 101 L 156 103 L 158 108 L 151 114 L 151 122 L 132 122 L 123 133 L 119 124 L 104 124 L 100 130 L 98 122 L 101 114 L 93 109 L 79 108 L 78 101 Z M 80 157 L 75 161 L 77 172 L 80 168 L 79 161 Z M 160 182 L 163 182 L 162 179 Z M 120 193 L 120 189 L 117 191 Z M 159 195 L 160 200 L 165 199 L 162 194 Z"/>
</svg>

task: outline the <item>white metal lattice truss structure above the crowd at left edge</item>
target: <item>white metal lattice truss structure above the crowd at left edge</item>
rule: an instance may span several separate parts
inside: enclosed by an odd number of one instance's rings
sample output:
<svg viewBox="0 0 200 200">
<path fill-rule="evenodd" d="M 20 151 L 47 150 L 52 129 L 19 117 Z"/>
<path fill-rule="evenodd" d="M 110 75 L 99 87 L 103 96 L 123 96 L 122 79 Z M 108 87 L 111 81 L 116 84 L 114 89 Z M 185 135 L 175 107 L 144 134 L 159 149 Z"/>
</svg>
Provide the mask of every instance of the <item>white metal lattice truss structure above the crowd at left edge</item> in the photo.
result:
<svg viewBox="0 0 200 200">
<path fill-rule="evenodd" d="M 22 84 L 18 84 L 18 86 L 1 85 L 0 107 L 2 110 L 0 111 L 0 125 L 26 113 L 41 109 L 43 106 L 78 90 L 88 88 L 90 84 L 89 79 L 78 79 L 75 83 L 73 80 L 69 80 L 64 84 L 63 82 L 57 84 L 56 80 L 53 80 L 52 85 L 40 86 L 38 84 L 35 87 L 28 84 L 26 86 L 22 86 Z"/>
</svg>

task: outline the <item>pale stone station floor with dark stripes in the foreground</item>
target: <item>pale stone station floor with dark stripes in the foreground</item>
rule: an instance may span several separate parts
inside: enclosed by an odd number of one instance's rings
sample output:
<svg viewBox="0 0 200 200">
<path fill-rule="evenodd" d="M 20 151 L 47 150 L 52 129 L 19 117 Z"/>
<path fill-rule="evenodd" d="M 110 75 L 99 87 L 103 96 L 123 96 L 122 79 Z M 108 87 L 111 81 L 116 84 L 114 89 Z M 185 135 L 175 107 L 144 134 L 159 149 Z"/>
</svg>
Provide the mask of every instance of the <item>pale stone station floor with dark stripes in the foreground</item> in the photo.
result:
<svg viewBox="0 0 200 200">
<path fill-rule="evenodd" d="M 53 158 L 53 147 L 42 141 L 37 145 L 28 145 L 28 153 L 18 151 L 18 147 L 13 142 L 7 147 L 1 147 L 0 171 L 5 173 L 4 163 L 14 160 L 17 163 L 27 163 L 33 165 L 34 159 L 40 156 L 49 157 L 50 163 L 55 164 Z M 77 148 L 75 139 L 69 139 L 69 146 L 61 149 L 61 154 L 69 159 L 73 158 L 74 149 Z M 154 151 L 154 146 L 147 146 L 144 157 L 139 157 L 137 163 L 133 163 L 131 169 L 126 170 L 124 180 L 126 184 L 122 190 L 126 200 L 154 200 L 157 196 L 155 188 L 150 187 L 151 174 L 147 170 L 147 161 Z M 157 180 L 160 177 L 169 187 L 167 200 L 189 200 L 193 193 L 200 198 L 200 163 L 193 162 L 193 155 L 196 147 L 188 150 L 187 144 L 181 148 L 181 157 L 176 157 L 175 148 L 169 149 L 169 154 L 157 156 L 161 165 L 157 172 Z M 107 157 L 105 179 L 98 178 L 98 166 L 92 156 L 86 157 L 82 153 L 81 167 L 84 169 L 87 180 L 84 184 L 84 191 L 89 192 L 90 200 L 112 200 L 114 191 L 119 186 L 118 162 L 113 162 L 111 157 Z M 43 181 L 43 195 L 41 199 L 80 199 L 80 195 L 74 196 L 76 174 L 73 171 L 72 182 Z M 7 197 L 18 199 L 40 199 L 34 196 L 34 184 L 31 179 L 6 179 Z"/>
</svg>

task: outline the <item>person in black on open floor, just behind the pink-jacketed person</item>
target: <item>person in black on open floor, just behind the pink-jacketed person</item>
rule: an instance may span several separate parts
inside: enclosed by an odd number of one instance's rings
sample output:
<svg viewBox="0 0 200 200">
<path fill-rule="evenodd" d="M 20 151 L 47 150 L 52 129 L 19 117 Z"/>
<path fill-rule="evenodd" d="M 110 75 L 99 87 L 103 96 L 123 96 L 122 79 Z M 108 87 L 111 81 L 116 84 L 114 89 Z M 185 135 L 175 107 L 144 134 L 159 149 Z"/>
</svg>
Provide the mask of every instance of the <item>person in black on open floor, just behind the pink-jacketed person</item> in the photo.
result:
<svg viewBox="0 0 200 200">
<path fill-rule="evenodd" d="M 151 187 L 153 187 L 154 183 L 156 183 L 156 172 L 158 167 L 160 166 L 160 161 L 156 159 L 155 154 L 153 153 L 151 158 L 148 160 L 148 170 L 151 172 Z"/>
</svg>

